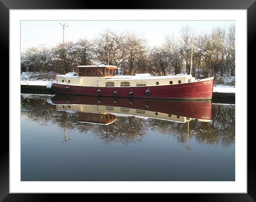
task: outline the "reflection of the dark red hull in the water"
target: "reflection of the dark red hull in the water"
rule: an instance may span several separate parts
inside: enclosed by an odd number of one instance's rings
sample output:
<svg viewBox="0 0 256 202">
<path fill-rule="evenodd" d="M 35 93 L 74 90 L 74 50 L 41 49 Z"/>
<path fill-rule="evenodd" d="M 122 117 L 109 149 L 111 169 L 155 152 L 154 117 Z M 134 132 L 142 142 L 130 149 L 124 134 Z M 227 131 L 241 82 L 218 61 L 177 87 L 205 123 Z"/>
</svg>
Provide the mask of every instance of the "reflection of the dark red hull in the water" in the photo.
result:
<svg viewBox="0 0 256 202">
<path fill-rule="evenodd" d="M 68 103 L 126 107 L 204 120 L 211 120 L 212 115 L 211 101 L 127 99 L 74 95 L 56 95 L 51 98 L 51 101 L 54 104 Z"/>
</svg>

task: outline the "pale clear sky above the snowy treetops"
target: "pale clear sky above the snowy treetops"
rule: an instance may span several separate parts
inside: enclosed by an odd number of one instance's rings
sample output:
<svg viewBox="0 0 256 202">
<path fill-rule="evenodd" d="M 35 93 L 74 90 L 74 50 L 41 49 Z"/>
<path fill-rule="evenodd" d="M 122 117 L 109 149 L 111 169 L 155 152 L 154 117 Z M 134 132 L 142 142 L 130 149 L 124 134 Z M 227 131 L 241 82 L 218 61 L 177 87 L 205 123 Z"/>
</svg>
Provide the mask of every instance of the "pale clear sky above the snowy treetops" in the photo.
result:
<svg viewBox="0 0 256 202">
<path fill-rule="evenodd" d="M 178 35 L 179 30 L 186 25 L 191 26 L 196 33 L 210 32 L 214 27 L 228 27 L 235 21 L 179 21 L 179 20 L 90 20 L 90 21 L 55 21 L 55 20 L 21 20 L 20 37 L 21 52 L 30 47 L 37 47 L 40 44 L 55 46 L 64 40 L 76 42 L 79 39 L 94 39 L 100 32 L 110 29 L 115 32 L 131 31 L 137 32 L 148 40 L 149 46 L 163 44 L 168 34 Z"/>
</svg>

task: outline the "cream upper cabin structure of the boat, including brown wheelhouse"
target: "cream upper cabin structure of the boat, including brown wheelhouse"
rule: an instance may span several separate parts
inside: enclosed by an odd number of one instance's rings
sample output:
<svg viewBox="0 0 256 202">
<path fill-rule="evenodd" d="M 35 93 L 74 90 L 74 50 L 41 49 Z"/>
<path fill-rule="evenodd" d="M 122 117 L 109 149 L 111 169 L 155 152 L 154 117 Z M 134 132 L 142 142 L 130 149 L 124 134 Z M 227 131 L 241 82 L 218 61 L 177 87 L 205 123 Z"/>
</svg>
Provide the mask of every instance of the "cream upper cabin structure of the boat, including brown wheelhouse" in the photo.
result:
<svg viewBox="0 0 256 202">
<path fill-rule="evenodd" d="M 136 86 L 163 86 L 195 82 L 189 75 L 151 76 L 150 74 L 136 74 L 135 76 L 117 75 L 117 67 L 112 65 L 77 66 L 78 74 L 68 72 L 57 75 L 54 83 L 74 86 L 99 87 L 136 87 Z"/>
</svg>

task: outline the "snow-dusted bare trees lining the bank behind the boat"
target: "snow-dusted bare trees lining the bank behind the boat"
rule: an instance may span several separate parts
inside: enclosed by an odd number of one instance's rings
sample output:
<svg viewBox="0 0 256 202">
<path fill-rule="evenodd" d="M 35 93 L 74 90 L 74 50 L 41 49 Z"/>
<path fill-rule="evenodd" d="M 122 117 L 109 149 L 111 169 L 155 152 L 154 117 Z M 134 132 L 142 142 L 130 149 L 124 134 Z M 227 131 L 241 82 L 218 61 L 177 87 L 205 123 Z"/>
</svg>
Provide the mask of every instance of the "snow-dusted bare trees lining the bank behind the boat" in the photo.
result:
<svg viewBox="0 0 256 202">
<path fill-rule="evenodd" d="M 134 32 L 102 31 L 93 40 L 66 41 L 54 47 L 40 45 L 21 53 L 22 71 L 77 71 L 78 65 L 115 65 L 120 74 L 189 74 L 197 78 L 235 76 L 235 24 L 215 27 L 207 34 L 184 26 L 179 34 L 167 35 L 159 46 Z"/>
</svg>

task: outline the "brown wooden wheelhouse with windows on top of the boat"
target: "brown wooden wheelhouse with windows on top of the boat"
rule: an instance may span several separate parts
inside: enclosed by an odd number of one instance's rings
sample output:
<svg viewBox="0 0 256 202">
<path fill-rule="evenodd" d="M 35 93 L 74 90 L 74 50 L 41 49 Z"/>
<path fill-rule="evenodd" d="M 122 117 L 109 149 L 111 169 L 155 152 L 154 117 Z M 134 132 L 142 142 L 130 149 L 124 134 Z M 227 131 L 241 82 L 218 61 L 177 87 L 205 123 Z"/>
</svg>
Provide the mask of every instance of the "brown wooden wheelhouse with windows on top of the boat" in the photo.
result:
<svg viewBox="0 0 256 202">
<path fill-rule="evenodd" d="M 116 66 L 78 66 L 79 76 L 115 76 Z"/>
</svg>

